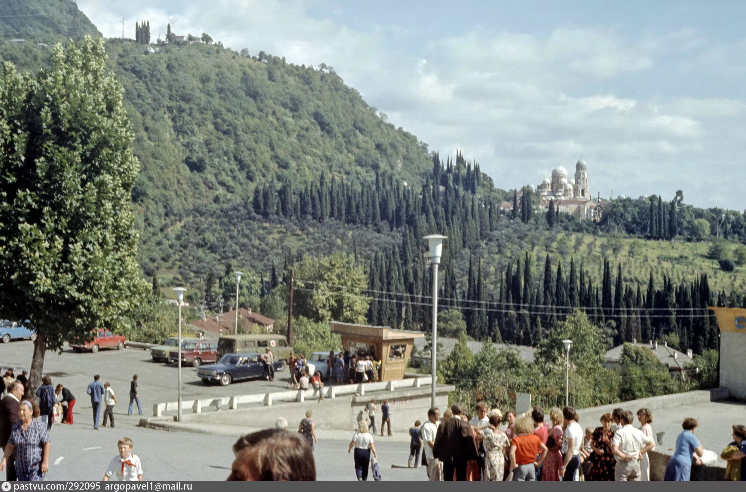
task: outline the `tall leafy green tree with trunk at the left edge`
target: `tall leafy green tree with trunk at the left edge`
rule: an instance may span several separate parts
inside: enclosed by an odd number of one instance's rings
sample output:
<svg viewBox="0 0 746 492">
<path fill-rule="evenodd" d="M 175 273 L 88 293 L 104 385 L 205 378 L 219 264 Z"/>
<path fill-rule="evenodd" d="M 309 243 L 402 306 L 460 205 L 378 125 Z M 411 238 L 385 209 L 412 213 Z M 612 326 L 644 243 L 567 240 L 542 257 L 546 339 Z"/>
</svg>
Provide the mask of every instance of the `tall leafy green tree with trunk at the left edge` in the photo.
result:
<svg viewBox="0 0 746 492">
<path fill-rule="evenodd" d="M 131 209 L 139 165 L 104 42 L 56 45 L 48 68 L 0 75 L 0 310 L 47 350 L 116 329 L 147 295 Z"/>
</svg>

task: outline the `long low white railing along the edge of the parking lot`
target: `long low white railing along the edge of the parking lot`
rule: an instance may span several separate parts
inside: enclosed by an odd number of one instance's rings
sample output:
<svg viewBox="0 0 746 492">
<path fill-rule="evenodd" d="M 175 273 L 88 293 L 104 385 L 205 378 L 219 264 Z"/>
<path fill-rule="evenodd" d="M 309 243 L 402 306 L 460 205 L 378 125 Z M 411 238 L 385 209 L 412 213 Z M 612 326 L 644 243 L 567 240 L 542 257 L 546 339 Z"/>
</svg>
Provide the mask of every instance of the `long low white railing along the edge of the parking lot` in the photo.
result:
<svg viewBox="0 0 746 492">
<path fill-rule="evenodd" d="M 422 376 L 411 379 L 398 379 L 396 381 L 366 382 L 357 385 L 325 386 L 322 390 L 325 398 L 335 398 L 345 394 L 363 395 L 372 391 L 394 391 L 400 388 L 420 388 L 430 385 L 431 376 Z M 236 410 L 239 405 L 249 403 L 263 403 L 265 406 L 273 402 L 304 402 L 307 398 L 315 397 L 318 391 L 313 388 L 307 390 L 270 391 L 269 393 L 242 394 L 235 397 L 204 398 L 201 400 L 182 400 L 181 408 L 189 409 L 198 414 L 205 407 L 214 406 L 216 410 Z M 177 411 L 178 402 L 156 403 L 153 406 L 153 417 L 161 417 L 164 412 Z"/>
</svg>

